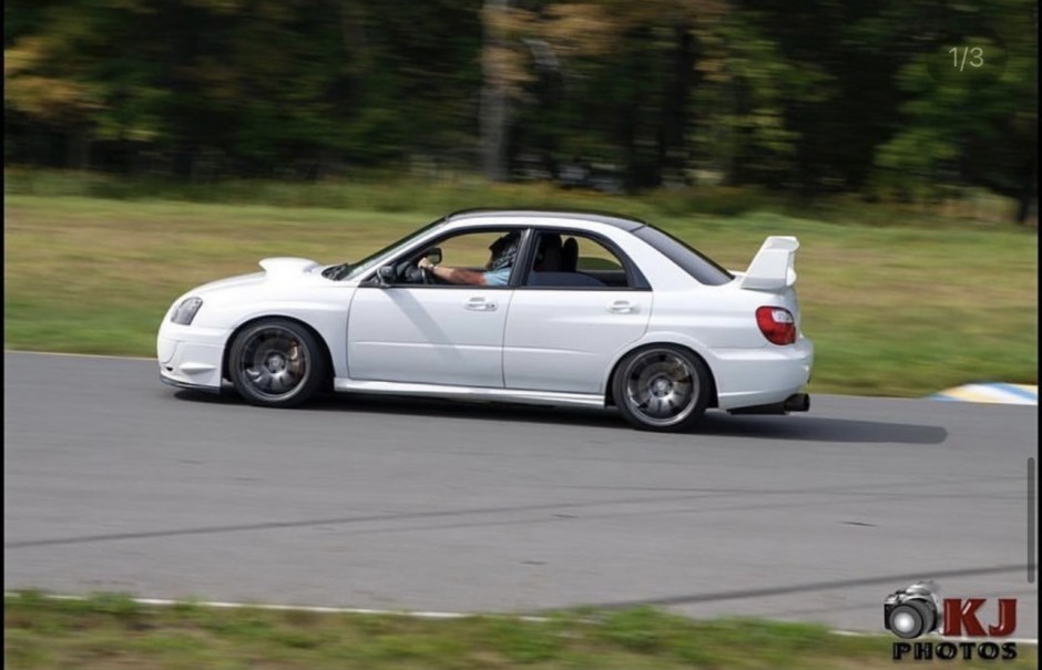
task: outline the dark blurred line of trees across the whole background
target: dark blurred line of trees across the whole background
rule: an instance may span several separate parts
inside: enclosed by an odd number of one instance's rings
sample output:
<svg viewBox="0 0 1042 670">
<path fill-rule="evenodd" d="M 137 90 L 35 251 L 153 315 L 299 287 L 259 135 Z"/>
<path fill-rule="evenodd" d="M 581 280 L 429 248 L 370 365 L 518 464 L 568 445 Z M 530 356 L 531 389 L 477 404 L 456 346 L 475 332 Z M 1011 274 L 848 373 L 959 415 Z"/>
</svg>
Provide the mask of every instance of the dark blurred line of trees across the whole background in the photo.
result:
<svg viewBox="0 0 1042 670">
<path fill-rule="evenodd" d="M 4 158 L 1035 207 L 1032 0 L 8 0 Z"/>
</svg>

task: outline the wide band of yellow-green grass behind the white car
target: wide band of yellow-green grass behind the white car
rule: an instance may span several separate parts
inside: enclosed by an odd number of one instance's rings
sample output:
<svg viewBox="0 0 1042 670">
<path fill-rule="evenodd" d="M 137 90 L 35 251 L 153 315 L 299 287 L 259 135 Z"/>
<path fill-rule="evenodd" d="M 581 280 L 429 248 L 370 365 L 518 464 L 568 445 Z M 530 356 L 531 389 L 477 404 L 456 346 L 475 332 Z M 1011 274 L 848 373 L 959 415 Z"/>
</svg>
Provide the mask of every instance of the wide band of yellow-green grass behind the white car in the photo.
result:
<svg viewBox="0 0 1042 670">
<path fill-rule="evenodd" d="M 152 355 L 165 309 L 195 285 L 256 271 L 268 256 L 357 259 L 461 206 L 528 203 L 641 216 L 734 269 L 767 235 L 797 235 L 803 328 L 817 346 L 811 392 L 918 396 L 1038 382 L 1036 229 L 977 209 L 942 217 L 839 199 L 796 216 L 789 204 L 734 192 L 699 205 L 697 193 L 623 198 L 469 183 L 257 183 L 255 199 L 269 204 L 246 204 L 242 182 L 157 183 L 151 193 L 163 199 L 154 199 L 140 182 L 29 174 L 9 178 L 4 203 L 11 349 Z M 120 197 L 67 195 L 98 192 L 92 179 Z M 190 202 L 203 197 L 192 188 L 229 202 Z"/>
</svg>

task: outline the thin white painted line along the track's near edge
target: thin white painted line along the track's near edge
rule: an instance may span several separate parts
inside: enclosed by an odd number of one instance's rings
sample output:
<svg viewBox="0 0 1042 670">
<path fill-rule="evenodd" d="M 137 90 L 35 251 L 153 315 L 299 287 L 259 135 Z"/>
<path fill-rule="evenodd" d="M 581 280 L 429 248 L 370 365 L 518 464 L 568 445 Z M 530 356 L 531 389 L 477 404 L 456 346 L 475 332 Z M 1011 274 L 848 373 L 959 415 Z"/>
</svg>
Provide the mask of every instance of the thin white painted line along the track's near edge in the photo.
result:
<svg viewBox="0 0 1042 670">
<path fill-rule="evenodd" d="M 4 591 L 4 598 L 20 598 L 21 594 Z M 85 596 L 61 596 L 54 594 L 44 594 L 43 598 L 51 600 L 88 600 Z M 321 615 L 371 615 L 379 617 L 410 617 L 415 619 L 467 619 L 473 617 L 494 617 L 500 619 L 514 619 L 518 621 L 534 621 L 534 622 L 545 622 L 551 619 L 548 617 L 532 617 L 532 616 L 522 616 L 522 615 L 496 615 L 496 614 L 468 614 L 468 612 L 454 612 L 454 611 L 410 611 L 410 610 L 396 610 L 396 609 L 367 609 L 358 607 L 318 607 L 318 606 L 308 606 L 308 605 L 269 605 L 269 604 L 252 604 L 252 602 L 222 602 L 222 601 L 211 601 L 211 600 L 167 600 L 163 598 L 131 598 L 133 602 L 139 605 L 150 605 L 155 607 L 174 607 L 177 605 L 190 605 L 195 607 L 212 607 L 214 609 L 263 609 L 268 611 L 302 611 L 302 612 L 314 612 Z M 851 638 L 869 638 L 869 637 L 880 637 L 883 633 L 880 632 L 858 632 L 854 630 L 830 630 L 832 635 L 845 636 Z M 979 639 L 973 638 L 946 638 L 943 636 L 929 636 L 933 639 L 946 640 L 951 642 L 980 642 Z M 1039 645 L 1038 639 L 1030 638 L 1009 638 L 1002 639 L 1003 642 L 1017 642 L 1018 645 Z"/>
</svg>

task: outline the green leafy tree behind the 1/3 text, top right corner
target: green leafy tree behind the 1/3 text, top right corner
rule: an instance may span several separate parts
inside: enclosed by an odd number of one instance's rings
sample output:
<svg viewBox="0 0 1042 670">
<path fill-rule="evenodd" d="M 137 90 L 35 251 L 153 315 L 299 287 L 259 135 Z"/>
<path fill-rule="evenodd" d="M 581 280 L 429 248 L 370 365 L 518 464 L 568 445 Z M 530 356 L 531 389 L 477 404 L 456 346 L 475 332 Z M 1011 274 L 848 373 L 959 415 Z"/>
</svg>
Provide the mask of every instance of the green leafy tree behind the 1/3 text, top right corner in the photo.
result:
<svg viewBox="0 0 1042 670">
<path fill-rule="evenodd" d="M 876 166 L 902 189 L 934 197 L 974 185 L 1017 198 L 1023 223 L 1038 199 L 1038 9 L 1024 0 L 989 4 L 987 13 L 953 8 L 900 70 L 906 102 Z"/>
</svg>

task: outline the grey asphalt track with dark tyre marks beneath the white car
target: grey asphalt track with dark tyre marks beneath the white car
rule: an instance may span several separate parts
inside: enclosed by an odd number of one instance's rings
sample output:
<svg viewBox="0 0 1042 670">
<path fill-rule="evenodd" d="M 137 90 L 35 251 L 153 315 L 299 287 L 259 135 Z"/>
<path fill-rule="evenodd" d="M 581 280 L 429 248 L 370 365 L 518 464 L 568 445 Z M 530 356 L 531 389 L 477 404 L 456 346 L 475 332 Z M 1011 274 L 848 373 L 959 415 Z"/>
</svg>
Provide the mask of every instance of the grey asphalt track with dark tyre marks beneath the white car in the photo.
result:
<svg viewBox="0 0 1042 670">
<path fill-rule="evenodd" d="M 932 578 L 1018 598 L 1015 635 L 1038 638 L 1036 425 L 1034 406 L 849 396 L 688 435 L 592 411 L 274 411 L 165 386 L 151 361 L 8 352 L 4 587 L 881 631 L 887 594 Z"/>
</svg>

